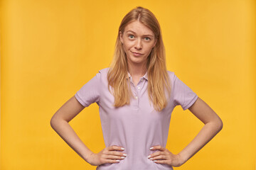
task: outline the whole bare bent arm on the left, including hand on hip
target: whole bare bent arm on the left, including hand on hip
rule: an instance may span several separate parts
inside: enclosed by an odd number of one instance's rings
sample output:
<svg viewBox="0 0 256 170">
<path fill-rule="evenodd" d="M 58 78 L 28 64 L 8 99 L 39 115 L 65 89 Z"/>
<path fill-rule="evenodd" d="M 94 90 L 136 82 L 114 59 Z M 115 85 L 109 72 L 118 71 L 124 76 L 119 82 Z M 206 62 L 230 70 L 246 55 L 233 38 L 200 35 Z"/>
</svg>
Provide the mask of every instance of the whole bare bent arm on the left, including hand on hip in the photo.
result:
<svg viewBox="0 0 256 170">
<path fill-rule="evenodd" d="M 117 151 L 124 151 L 124 148 L 119 146 L 105 147 L 102 151 L 95 154 L 85 146 L 73 128 L 68 124 L 84 108 L 73 96 L 53 115 L 53 118 L 50 120 L 51 127 L 85 162 L 93 166 L 120 162 L 127 154 Z"/>
</svg>

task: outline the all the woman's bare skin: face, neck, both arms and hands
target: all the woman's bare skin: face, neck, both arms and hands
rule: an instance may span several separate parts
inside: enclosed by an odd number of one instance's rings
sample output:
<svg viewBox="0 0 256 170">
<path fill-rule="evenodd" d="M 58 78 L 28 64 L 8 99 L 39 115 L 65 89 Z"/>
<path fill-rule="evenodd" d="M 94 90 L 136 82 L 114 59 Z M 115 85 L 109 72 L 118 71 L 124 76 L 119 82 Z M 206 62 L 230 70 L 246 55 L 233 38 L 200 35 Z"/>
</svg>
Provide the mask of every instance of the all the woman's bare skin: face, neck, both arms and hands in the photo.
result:
<svg viewBox="0 0 256 170">
<path fill-rule="evenodd" d="M 119 35 L 124 51 L 127 54 L 129 73 L 136 86 L 140 77 L 146 73 L 146 60 L 151 49 L 156 45 L 156 38 L 154 33 L 139 21 L 129 23 L 124 28 L 124 33 Z M 134 56 L 132 52 L 139 52 L 142 55 Z M 123 152 L 125 149 L 122 149 L 122 146 L 105 147 L 100 152 L 94 153 L 80 140 L 68 123 L 84 108 L 73 96 L 53 115 L 50 120 L 51 127 L 82 159 L 91 165 L 114 164 L 125 159 L 127 154 Z M 198 132 L 198 135 L 178 154 L 173 154 L 169 149 L 160 145 L 152 146 L 151 150 L 158 151 L 150 154 L 148 159 L 156 164 L 181 166 L 223 128 L 222 120 L 201 98 L 198 97 L 188 110 L 205 124 L 201 131 Z"/>
</svg>

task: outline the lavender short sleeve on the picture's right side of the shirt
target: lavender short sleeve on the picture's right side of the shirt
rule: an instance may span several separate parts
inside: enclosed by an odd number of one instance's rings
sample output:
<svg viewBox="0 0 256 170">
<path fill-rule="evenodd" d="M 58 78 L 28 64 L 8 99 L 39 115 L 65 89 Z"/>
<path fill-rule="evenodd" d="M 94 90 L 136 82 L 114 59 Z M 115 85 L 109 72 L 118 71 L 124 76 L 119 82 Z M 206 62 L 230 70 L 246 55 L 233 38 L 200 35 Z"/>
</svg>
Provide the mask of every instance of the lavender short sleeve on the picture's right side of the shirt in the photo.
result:
<svg viewBox="0 0 256 170">
<path fill-rule="evenodd" d="M 184 84 L 176 75 L 174 74 L 174 103 L 175 105 L 181 105 L 183 111 L 190 108 L 193 103 L 195 103 L 198 96 L 186 85 Z"/>
</svg>

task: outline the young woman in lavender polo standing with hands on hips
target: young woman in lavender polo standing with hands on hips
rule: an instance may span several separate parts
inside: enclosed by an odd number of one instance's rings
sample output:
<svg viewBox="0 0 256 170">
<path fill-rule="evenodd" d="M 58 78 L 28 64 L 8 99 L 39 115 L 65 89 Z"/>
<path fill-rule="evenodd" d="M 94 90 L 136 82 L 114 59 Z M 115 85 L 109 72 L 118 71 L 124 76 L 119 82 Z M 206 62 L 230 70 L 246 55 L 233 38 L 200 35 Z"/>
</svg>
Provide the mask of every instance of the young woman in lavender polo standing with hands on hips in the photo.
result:
<svg viewBox="0 0 256 170">
<path fill-rule="evenodd" d="M 97 103 L 106 147 L 88 149 L 68 122 Z M 178 154 L 166 149 L 171 113 L 188 109 L 205 125 Z M 223 127 L 218 115 L 174 72 L 166 70 L 156 17 L 137 7 L 124 16 L 110 67 L 101 69 L 50 120 L 52 128 L 98 170 L 173 169 L 181 166 Z"/>
</svg>

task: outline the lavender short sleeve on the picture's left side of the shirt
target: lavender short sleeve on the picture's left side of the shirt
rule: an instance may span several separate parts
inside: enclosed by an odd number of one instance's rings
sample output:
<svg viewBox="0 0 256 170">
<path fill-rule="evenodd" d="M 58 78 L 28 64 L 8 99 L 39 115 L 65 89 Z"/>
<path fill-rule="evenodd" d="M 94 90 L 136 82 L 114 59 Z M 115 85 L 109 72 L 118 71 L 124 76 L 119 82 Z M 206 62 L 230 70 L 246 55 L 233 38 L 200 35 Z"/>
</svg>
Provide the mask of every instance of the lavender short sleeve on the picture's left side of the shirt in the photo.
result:
<svg viewBox="0 0 256 170">
<path fill-rule="evenodd" d="M 84 107 L 90 106 L 90 104 L 100 101 L 100 72 L 98 72 L 95 77 L 90 79 L 82 88 L 77 91 L 75 98 Z"/>
</svg>

